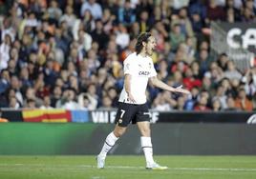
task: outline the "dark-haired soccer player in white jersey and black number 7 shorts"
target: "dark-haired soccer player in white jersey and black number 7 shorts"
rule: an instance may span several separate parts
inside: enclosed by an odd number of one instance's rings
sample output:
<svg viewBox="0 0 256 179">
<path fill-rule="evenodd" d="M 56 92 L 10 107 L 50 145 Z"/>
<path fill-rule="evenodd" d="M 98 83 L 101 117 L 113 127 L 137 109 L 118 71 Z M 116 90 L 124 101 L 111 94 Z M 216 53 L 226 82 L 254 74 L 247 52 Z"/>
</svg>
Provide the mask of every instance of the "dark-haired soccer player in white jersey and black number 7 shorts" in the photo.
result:
<svg viewBox="0 0 256 179">
<path fill-rule="evenodd" d="M 140 143 L 146 159 L 146 169 L 167 169 L 153 159 L 150 133 L 150 116 L 146 105 L 146 87 L 148 80 L 160 89 L 189 94 L 186 89 L 172 88 L 160 81 L 154 68 L 152 58 L 156 39 L 149 32 L 139 34 L 136 52 L 124 60 L 124 86 L 118 100 L 115 129 L 107 136 L 103 148 L 97 155 L 97 168 L 103 169 L 107 153 L 117 142 L 132 122 L 137 124 L 141 134 Z"/>
</svg>

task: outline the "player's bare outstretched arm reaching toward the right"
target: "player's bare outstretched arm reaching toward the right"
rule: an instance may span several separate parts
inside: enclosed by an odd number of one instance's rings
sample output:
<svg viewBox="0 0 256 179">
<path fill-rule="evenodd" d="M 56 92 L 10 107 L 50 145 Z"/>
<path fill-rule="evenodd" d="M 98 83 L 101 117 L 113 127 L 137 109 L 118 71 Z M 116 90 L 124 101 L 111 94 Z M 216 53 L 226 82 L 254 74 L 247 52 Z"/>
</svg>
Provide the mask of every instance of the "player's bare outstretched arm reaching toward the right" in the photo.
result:
<svg viewBox="0 0 256 179">
<path fill-rule="evenodd" d="M 160 81 L 160 79 L 157 76 L 150 77 L 149 79 L 150 79 L 150 82 L 152 83 L 152 85 L 154 85 L 155 87 L 158 87 L 160 89 L 169 90 L 171 92 L 181 92 L 181 93 L 185 93 L 185 94 L 190 94 L 190 91 L 187 89 L 181 89 L 180 87 L 173 88 L 173 87 L 168 86 L 167 84 Z"/>
</svg>

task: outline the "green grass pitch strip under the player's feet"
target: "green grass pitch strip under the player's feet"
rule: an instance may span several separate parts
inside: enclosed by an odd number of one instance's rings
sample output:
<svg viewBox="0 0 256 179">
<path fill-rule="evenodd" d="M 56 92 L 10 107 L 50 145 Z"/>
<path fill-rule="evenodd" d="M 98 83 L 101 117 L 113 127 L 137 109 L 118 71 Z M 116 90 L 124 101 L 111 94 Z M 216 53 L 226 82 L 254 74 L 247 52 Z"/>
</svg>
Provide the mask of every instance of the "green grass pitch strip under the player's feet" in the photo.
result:
<svg viewBox="0 0 256 179">
<path fill-rule="evenodd" d="M 155 156 L 166 170 L 145 169 L 143 155 L 0 156 L 0 179 L 255 179 L 256 156 Z"/>
</svg>

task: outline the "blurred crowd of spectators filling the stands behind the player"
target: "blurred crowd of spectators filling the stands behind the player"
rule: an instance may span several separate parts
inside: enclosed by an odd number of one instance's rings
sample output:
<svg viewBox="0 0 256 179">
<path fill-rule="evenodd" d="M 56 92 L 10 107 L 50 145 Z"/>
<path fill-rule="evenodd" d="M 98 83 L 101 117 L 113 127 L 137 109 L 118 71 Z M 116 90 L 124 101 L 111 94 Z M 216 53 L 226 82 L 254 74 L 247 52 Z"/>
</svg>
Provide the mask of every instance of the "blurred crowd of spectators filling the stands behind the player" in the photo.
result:
<svg viewBox="0 0 256 179">
<path fill-rule="evenodd" d="M 157 38 L 151 109 L 256 109 L 256 67 L 241 71 L 209 47 L 211 21 L 255 22 L 252 0 L 0 0 L 0 107 L 109 109 L 140 32 Z"/>
</svg>

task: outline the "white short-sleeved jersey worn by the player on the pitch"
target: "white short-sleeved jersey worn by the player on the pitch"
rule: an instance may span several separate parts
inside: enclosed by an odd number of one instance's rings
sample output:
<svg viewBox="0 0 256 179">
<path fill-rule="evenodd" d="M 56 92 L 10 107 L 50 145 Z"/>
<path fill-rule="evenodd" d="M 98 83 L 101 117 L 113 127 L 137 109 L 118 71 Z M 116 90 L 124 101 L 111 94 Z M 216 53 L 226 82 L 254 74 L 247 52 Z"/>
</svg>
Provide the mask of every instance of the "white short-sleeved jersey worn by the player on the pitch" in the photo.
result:
<svg viewBox="0 0 256 179">
<path fill-rule="evenodd" d="M 123 62 L 124 74 L 131 75 L 131 94 L 136 103 L 127 100 L 127 92 L 124 87 L 120 93 L 119 102 L 144 104 L 146 103 L 146 88 L 148 78 L 157 76 L 151 57 L 143 57 L 136 52 L 130 54 Z"/>
</svg>

